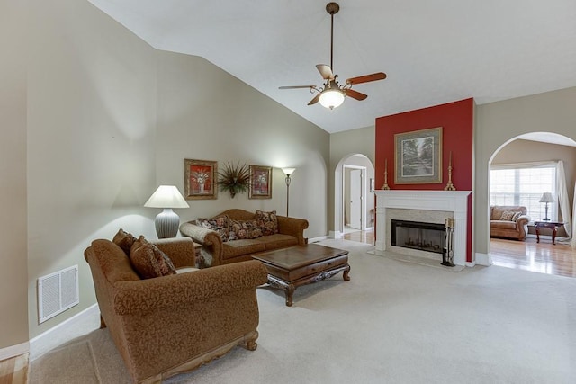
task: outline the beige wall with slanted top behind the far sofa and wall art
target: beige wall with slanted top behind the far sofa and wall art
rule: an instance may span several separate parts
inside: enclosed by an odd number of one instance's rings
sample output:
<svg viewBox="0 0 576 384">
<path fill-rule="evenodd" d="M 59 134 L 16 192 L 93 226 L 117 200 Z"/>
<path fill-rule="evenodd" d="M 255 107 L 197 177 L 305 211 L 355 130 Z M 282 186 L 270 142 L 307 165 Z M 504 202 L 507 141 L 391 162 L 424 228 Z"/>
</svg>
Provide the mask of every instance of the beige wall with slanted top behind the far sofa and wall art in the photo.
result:
<svg viewBox="0 0 576 384">
<path fill-rule="evenodd" d="M 329 134 L 203 58 L 158 52 L 157 181 L 184 188 L 183 159 L 272 166 L 272 199 L 219 192 L 217 200 L 189 201 L 182 220 L 222 210 L 286 214 L 281 167 L 295 167 L 290 216 L 306 218 L 305 237 L 327 233 Z M 183 189 L 181 189 L 183 191 Z"/>
</svg>

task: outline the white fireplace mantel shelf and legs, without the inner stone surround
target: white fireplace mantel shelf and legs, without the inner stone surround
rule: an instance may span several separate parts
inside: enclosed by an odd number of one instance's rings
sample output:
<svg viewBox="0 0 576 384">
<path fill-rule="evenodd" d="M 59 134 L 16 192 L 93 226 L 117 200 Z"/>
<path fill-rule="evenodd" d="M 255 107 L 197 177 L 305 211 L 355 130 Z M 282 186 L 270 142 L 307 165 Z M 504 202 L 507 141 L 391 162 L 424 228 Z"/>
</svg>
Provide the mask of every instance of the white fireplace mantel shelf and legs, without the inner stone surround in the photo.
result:
<svg viewBox="0 0 576 384">
<path fill-rule="evenodd" d="M 376 194 L 376 250 L 386 250 L 386 231 L 390 221 L 386 210 L 444 210 L 454 212 L 454 263 L 466 264 L 468 242 L 468 195 L 471 191 L 405 191 L 377 190 Z"/>
</svg>

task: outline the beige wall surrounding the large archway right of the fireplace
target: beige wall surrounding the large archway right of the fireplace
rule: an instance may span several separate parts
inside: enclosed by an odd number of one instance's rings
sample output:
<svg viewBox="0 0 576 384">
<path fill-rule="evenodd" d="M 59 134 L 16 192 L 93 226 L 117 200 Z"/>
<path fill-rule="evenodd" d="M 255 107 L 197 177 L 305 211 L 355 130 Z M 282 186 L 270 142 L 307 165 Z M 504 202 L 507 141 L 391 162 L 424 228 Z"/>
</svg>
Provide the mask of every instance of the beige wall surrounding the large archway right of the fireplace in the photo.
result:
<svg viewBox="0 0 576 384">
<path fill-rule="evenodd" d="M 492 155 L 528 132 L 553 132 L 576 140 L 576 87 L 476 107 L 474 131 L 475 252 L 487 255 L 490 244 L 488 171 Z"/>
</svg>

